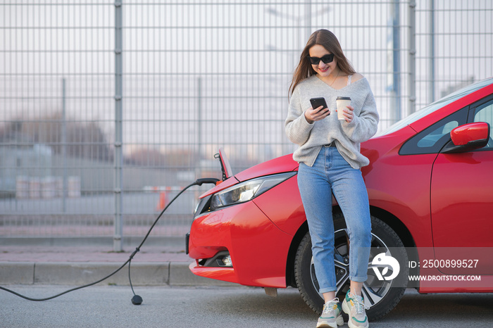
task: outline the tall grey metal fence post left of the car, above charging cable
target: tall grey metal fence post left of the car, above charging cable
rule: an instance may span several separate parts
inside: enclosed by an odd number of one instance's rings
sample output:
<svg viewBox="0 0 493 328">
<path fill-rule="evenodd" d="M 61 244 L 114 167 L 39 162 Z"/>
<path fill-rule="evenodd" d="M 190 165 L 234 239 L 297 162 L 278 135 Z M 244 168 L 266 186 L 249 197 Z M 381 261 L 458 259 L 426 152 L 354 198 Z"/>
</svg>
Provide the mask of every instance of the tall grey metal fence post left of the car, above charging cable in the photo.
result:
<svg viewBox="0 0 493 328">
<path fill-rule="evenodd" d="M 115 155 L 114 155 L 114 174 L 113 182 L 114 200 L 115 200 L 115 234 L 113 235 L 113 251 L 123 250 L 123 193 L 122 193 L 122 166 L 123 166 L 123 31 L 122 31 L 122 0 L 115 1 Z"/>
</svg>

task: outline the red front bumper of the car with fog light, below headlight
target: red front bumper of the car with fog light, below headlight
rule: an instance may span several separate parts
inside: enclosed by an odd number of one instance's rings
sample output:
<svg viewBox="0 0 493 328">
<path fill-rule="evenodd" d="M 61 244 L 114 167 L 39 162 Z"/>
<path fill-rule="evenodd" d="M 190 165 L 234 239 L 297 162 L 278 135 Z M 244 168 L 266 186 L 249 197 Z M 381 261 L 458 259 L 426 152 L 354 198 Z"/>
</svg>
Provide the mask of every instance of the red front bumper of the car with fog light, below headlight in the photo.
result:
<svg viewBox="0 0 493 328">
<path fill-rule="evenodd" d="M 187 251 L 195 275 L 245 286 L 286 287 L 292 235 L 282 232 L 254 201 L 196 217 Z M 229 255 L 232 267 L 221 264 Z"/>
</svg>

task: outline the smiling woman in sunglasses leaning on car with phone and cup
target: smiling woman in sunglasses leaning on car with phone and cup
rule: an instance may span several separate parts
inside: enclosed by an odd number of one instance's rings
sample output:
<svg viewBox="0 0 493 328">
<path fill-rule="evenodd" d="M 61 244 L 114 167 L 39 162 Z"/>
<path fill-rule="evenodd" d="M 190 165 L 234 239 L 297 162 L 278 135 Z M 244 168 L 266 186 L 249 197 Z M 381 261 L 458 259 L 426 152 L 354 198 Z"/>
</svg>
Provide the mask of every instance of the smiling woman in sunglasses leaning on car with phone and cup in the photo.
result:
<svg viewBox="0 0 493 328">
<path fill-rule="evenodd" d="M 332 193 L 349 234 L 350 289 L 342 310 L 349 327 L 368 327 L 361 287 L 370 257 L 371 223 L 368 194 L 360 168 L 369 160 L 360 143 L 377 132 L 378 113 L 370 85 L 351 67 L 337 37 L 318 30 L 308 39 L 289 88 L 287 137 L 299 147 L 298 186 L 310 230 L 313 262 L 325 305 L 317 327 L 344 324 L 335 297 L 334 224 Z M 337 96 L 351 97 L 344 120 L 337 120 Z M 328 108 L 311 108 L 310 99 L 324 97 Z"/>
</svg>

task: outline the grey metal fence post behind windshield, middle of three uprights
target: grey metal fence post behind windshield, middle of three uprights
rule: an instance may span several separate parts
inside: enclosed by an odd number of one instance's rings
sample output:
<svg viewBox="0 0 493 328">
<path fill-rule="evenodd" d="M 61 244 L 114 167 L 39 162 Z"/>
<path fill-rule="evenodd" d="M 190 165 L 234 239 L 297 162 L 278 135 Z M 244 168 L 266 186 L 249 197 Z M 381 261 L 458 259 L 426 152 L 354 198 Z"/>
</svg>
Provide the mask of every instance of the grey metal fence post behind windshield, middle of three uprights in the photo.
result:
<svg viewBox="0 0 493 328">
<path fill-rule="evenodd" d="M 407 115 L 416 111 L 416 1 L 409 2 L 409 107 Z"/>
</svg>

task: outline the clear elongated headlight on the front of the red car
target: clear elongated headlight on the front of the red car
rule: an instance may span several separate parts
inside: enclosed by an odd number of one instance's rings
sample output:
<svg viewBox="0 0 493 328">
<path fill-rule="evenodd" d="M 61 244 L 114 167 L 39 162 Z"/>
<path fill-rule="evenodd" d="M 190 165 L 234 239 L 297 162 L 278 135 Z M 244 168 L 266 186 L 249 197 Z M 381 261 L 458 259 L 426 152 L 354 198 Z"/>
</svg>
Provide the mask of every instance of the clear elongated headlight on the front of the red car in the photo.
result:
<svg viewBox="0 0 493 328">
<path fill-rule="evenodd" d="M 296 174 L 297 172 L 287 172 L 278 175 L 267 175 L 266 177 L 257 177 L 235 184 L 235 186 L 219 191 L 212 196 L 211 210 L 251 201 Z"/>
</svg>

